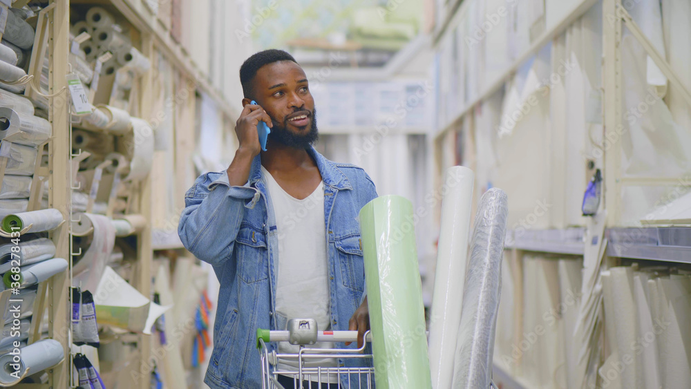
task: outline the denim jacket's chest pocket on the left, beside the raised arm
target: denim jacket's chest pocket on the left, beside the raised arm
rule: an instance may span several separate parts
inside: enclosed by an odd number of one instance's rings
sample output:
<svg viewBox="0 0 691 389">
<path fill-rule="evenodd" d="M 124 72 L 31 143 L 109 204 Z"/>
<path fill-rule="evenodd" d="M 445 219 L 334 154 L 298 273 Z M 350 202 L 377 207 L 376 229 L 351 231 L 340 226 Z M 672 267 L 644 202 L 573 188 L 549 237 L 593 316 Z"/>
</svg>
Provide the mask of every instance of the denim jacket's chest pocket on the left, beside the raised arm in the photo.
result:
<svg viewBox="0 0 691 389">
<path fill-rule="evenodd" d="M 264 232 L 249 225 L 240 225 L 235 243 L 240 278 L 245 283 L 269 278 L 268 244 Z"/>
</svg>

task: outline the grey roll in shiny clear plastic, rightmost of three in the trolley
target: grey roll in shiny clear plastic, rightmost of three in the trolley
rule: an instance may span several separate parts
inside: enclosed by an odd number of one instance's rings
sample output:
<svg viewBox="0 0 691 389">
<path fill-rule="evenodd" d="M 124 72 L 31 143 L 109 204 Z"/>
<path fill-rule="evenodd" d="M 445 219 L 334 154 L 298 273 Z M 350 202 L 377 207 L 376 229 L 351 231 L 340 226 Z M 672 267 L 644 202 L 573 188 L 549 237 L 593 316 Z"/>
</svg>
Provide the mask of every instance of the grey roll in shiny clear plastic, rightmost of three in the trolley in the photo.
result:
<svg viewBox="0 0 691 389">
<path fill-rule="evenodd" d="M 453 389 L 489 388 L 491 382 L 508 214 L 507 194 L 501 189 L 489 189 L 480 198 L 463 292 Z"/>
</svg>

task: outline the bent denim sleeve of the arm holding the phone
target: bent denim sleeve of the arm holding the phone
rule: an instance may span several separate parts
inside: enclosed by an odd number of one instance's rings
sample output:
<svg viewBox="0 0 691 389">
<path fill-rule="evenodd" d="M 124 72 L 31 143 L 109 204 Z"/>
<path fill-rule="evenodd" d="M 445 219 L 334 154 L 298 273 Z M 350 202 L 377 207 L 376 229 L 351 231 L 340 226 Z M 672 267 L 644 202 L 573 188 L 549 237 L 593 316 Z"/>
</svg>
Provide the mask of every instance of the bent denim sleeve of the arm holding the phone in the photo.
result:
<svg viewBox="0 0 691 389">
<path fill-rule="evenodd" d="M 245 207 L 260 197 L 249 183 L 231 187 L 225 171 L 205 173 L 184 195 L 184 210 L 178 224 L 182 245 L 211 265 L 223 265 L 231 257 Z"/>
</svg>

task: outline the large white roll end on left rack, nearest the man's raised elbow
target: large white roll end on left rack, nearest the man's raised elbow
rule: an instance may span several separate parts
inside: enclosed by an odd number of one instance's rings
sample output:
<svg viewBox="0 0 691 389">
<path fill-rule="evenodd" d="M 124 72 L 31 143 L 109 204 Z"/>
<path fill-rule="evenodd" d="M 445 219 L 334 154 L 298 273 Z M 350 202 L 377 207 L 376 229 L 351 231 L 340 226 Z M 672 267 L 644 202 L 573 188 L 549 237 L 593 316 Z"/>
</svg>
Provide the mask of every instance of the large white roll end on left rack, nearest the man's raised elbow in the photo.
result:
<svg viewBox="0 0 691 389">
<path fill-rule="evenodd" d="M 130 162 L 130 172 L 125 181 L 139 181 L 146 178 L 153 164 L 153 129 L 146 120 L 132 117 L 133 133 L 129 140 L 126 158 Z"/>
</svg>

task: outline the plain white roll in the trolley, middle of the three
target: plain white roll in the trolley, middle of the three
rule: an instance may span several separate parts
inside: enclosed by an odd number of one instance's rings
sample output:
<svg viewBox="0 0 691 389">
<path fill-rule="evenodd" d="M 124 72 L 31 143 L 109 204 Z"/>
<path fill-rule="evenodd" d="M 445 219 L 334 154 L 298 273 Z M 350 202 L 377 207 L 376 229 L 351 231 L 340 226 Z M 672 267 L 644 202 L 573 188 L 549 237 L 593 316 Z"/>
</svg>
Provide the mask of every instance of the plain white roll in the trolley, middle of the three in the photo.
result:
<svg viewBox="0 0 691 389">
<path fill-rule="evenodd" d="M 453 379 L 453 356 L 461 323 L 474 181 L 475 174 L 467 167 L 450 167 L 444 173 L 444 182 L 456 184 L 448 187 L 442 198 L 437 246 L 429 339 L 432 387 L 435 389 L 451 388 Z"/>
</svg>

